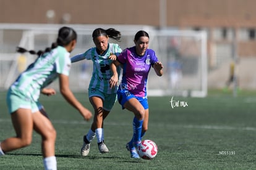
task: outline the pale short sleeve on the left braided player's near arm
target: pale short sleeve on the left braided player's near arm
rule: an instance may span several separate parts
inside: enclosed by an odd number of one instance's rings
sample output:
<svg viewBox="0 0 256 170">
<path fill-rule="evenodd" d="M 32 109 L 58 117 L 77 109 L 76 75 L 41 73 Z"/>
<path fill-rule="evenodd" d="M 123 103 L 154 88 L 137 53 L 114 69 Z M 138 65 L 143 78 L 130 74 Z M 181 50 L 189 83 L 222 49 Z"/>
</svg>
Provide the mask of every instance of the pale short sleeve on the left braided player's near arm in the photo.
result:
<svg viewBox="0 0 256 170">
<path fill-rule="evenodd" d="M 69 76 L 69 71 L 71 67 L 71 61 L 69 58 L 69 53 L 64 55 L 59 55 L 56 59 L 56 72 L 62 75 Z"/>
</svg>

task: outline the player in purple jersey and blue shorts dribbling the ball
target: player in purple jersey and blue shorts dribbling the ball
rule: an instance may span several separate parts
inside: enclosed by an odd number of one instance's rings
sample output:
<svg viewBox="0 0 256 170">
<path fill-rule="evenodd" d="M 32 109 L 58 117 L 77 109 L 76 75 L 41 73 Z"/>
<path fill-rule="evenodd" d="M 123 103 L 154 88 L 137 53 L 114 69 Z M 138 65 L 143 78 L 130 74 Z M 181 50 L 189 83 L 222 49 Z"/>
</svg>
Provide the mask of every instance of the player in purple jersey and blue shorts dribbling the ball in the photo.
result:
<svg viewBox="0 0 256 170">
<path fill-rule="evenodd" d="M 147 78 L 151 66 L 156 75 L 163 75 L 163 65 L 158 62 L 155 51 L 148 49 L 149 36 L 145 31 L 138 31 L 134 38 L 134 47 L 124 50 L 113 65 L 123 68 L 122 83 L 117 91 L 117 98 L 122 108 L 132 111 L 134 134 L 126 148 L 132 158 L 139 158 L 136 148 L 148 129 Z M 118 81 L 117 71 L 113 70 L 112 86 Z"/>
</svg>

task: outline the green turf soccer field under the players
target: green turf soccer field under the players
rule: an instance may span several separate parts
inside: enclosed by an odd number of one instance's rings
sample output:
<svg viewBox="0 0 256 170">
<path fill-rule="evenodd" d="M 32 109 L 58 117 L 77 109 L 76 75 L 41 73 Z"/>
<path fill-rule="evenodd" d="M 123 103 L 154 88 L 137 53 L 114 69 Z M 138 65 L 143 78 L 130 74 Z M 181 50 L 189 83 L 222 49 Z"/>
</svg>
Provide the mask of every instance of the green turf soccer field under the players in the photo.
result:
<svg viewBox="0 0 256 170">
<path fill-rule="evenodd" d="M 7 113 L 6 92 L 0 93 L 0 141 L 14 136 Z M 84 92 L 75 94 L 93 111 Z M 256 93 L 211 92 L 206 98 L 148 97 L 150 118 L 144 139 L 158 145 L 153 160 L 130 158 L 126 143 L 132 137 L 134 115 L 119 103 L 105 120 L 109 153 L 100 154 L 96 139 L 87 157 L 80 156 L 83 135 L 92 120 L 83 121 L 60 94 L 41 96 L 41 103 L 58 133 L 58 169 L 256 169 Z M 179 101 L 179 102 L 178 102 Z M 32 145 L 0 157 L 0 169 L 43 169 L 40 136 Z"/>
</svg>

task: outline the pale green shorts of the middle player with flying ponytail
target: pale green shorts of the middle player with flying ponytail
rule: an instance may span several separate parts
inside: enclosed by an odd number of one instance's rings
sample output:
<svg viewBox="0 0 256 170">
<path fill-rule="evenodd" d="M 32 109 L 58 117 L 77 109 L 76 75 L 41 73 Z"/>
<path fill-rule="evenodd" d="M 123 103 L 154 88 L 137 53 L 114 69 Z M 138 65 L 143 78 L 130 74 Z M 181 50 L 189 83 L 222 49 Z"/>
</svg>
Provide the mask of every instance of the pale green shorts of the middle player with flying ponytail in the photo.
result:
<svg viewBox="0 0 256 170">
<path fill-rule="evenodd" d="M 103 109 L 106 111 L 110 111 L 113 108 L 114 103 L 116 102 L 116 99 L 117 99 L 116 93 L 106 94 L 95 88 L 88 89 L 88 95 L 89 95 L 89 98 L 93 96 L 100 97 L 103 100 Z"/>
</svg>

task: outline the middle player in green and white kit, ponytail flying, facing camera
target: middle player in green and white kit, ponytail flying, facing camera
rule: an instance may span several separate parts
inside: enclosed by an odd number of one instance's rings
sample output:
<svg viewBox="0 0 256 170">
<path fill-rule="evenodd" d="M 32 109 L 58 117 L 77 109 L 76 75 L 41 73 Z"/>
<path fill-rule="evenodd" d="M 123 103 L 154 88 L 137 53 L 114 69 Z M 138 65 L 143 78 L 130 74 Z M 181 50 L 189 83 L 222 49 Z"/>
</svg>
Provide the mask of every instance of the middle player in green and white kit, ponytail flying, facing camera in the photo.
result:
<svg viewBox="0 0 256 170">
<path fill-rule="evenodd" d="M 117 87 L 112 88 L 113 72 L 110 65 L 113 60 L 122 52 L 118 44 L 108 43 L 109 38 L 120 41 L 121 33 L 113 28 L 104 30 L 97 28 L 92 34 L 95 47 L 88 49 L 85 53 L 75 55 L 71 62 L 87 59 L 93 62 L 93 73 L 88 88 L 90 102 L 95 111 L 91 128 L 87 135 L 83 136 L 81 155 L 87 156 L 90 152 L 90 142 L 97 137 L 100 153 L 108 153 L 108 147 L 104 143 L 103 120 L 108 116 L 109 111 L 116 102 Z M 117 71 L 119 75 L 119 70 Z M 117 78 L 118 79 L 118 78 Z"/>
</svg>

